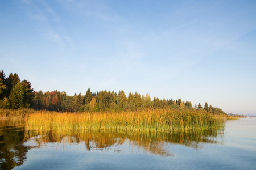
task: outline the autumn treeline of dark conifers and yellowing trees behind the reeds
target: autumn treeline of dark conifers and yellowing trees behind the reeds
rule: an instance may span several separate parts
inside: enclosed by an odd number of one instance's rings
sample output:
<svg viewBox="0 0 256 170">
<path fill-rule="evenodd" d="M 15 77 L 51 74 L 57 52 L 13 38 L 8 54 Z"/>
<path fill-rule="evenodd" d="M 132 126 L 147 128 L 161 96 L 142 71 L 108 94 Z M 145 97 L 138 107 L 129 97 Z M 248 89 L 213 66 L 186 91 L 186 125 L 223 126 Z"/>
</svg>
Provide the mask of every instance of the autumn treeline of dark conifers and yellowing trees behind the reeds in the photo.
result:
<svg viewBox="0 0 256 170">
<path fill-rule="evenodd" d="M 7 78 L 3 70 L 0 72 L 0 108 L 19 109 L 34 108 L 36 110 L 62 111 L 62 112 L 118 112 L 135 111 L 146 108 L 176 108 L 176 109 L 204 109 L 212 114 L 226 114 L 220 108 L 214 108 L 205 103 L 192 106 L 190 101 L 181 99 L 151 100 L 138 92 L 130 92 L 128 97 L 124 91 L 98 91 L 91 92 L 90 88 L 85 95 L 81 92 L 68 96 L 65 91 L 36 92 L 31 88 L 28 80 L 20 81 L 18 74 L 11 73 Z"/>
</svg>

